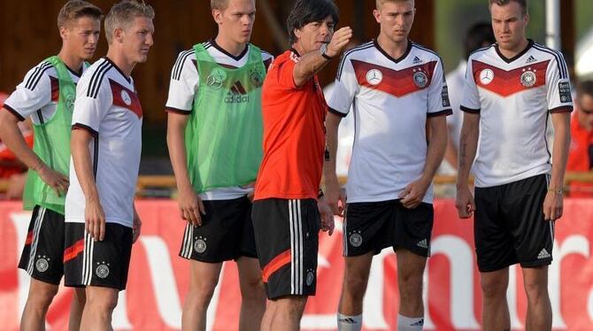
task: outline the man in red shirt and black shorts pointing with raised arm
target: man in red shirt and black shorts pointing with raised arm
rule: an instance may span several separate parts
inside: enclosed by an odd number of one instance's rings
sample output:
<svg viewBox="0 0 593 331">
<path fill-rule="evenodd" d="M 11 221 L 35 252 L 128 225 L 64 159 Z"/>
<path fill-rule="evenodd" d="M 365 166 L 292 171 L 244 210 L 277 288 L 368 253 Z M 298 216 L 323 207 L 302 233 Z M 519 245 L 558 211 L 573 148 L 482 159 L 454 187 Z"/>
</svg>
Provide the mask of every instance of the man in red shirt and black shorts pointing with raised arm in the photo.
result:
<svg viewBox="0 0 593 331">
<path fill-rule="evenodd" d="M 331 0 L 297 0 L 287 20 L 292 48 L 274 59 L 264 81 L 264 158 L 252 212 L 271 300 L 262 330 L 298 329 L 307 296 L 315 294 L 318 232 L 333 232 L 331 211 L 316 201 L 327 104 L 315 74 L 350 41 L 350 27 L 334 33 L 337 19 Z"/>
</svg>

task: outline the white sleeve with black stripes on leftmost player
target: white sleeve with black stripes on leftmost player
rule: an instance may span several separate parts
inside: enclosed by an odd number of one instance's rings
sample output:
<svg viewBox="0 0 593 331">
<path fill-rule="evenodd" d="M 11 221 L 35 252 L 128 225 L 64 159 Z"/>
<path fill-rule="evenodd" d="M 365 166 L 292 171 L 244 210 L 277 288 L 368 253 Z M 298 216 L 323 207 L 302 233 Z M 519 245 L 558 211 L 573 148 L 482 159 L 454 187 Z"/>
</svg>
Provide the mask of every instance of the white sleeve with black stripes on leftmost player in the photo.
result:
<svg viewBox="0 0 593 331">
<path fill-rule="evenodd" d="M 31 69 L 25 80 L 4 102 L 4 108 L 12 112 L 19 120 L 42 109 L 51 102 L 51 81 L 48 71 L 51 65 L 43 63 Z"/>
</svg>

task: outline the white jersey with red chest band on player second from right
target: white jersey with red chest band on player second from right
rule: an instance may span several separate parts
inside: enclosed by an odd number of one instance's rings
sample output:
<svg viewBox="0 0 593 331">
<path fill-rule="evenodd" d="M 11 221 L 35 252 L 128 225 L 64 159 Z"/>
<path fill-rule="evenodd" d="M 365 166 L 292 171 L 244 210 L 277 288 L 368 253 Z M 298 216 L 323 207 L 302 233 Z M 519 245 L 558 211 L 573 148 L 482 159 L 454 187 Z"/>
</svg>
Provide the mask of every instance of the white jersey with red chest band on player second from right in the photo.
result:
<svg viewBox="0 0 593 331">
<path fill-rule="evenodd" d="M 427 118 L 451 114 L 441 58 L 414 42 L 400 58 L 376 41 L 347 51 L 328 105 L 354 112 L 348 203 L 397 199 L 424 172 Z M 432 185 L 422 201 L 432 204 Z"/>
</svg>

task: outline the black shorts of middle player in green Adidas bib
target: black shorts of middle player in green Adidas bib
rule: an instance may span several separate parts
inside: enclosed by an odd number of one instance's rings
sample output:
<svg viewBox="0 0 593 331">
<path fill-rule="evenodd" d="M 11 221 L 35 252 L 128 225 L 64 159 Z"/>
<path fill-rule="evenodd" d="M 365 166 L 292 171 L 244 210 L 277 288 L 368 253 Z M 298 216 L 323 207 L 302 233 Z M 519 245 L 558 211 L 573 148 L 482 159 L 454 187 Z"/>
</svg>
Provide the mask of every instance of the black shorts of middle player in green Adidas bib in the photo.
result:
<svg viewBox="0 0 593 331">
<path fill-rule="evenodd" d="M 250 200 L 242 196 L 203 203 L 202 226 L 186 225 L 179 256 L 208 263 L 258 258 Z"/>
</svg>

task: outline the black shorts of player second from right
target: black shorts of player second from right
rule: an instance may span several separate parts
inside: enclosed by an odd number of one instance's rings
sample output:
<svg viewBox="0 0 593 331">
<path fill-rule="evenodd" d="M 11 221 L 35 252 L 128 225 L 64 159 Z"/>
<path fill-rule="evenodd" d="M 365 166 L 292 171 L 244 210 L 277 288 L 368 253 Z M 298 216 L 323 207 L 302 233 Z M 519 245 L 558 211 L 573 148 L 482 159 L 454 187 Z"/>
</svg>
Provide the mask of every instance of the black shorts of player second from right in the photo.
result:
<svg viewBox="0 0 593 331">
<path fill-rule="evenodd" d="M 356 257 L 386 247 L 404 248 L 422 257 L 430 255 L 432 204 L 405 208 L 400 199 L 347 204 L 343 223 L 343 256 Z"/>
</svg>

